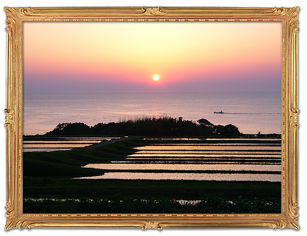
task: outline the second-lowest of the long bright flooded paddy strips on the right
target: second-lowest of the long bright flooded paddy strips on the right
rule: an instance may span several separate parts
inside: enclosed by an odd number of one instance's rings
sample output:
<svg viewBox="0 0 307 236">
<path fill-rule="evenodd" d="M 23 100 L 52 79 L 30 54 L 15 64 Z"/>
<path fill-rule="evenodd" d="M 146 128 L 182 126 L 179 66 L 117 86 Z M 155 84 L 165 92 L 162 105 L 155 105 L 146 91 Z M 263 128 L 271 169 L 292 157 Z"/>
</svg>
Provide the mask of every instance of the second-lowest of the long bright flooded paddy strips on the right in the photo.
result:
<svg viewBox="0 0 307 236">
<path fill-rule="evenodd" d="M 104 163 L 87 164 L 84 168 L 105 170 L 186 170 L 186 171 L 281 171 L 280 164 L 167 164 L 167 163 Z"/>
</svg>

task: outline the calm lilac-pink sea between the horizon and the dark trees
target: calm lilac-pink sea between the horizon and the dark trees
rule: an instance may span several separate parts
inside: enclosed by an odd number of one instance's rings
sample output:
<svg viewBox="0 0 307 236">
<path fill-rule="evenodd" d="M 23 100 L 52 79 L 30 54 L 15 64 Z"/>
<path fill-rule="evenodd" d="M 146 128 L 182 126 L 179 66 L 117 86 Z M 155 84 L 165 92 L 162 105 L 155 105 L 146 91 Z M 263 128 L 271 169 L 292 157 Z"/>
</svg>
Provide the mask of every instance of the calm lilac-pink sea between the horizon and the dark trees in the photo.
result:
<svg viewBox="0 0 307 236">
<path fill-rule="evenodd" d="M 207 119 L 242 133 L 281 133 L 281 92 L 82 91 L 24 93 L 23 133 L 44 134 L 59 123 L 119 122 L 143 116 Z M 214 111 L 223 110 L 223 114 Z"/>
</svg>

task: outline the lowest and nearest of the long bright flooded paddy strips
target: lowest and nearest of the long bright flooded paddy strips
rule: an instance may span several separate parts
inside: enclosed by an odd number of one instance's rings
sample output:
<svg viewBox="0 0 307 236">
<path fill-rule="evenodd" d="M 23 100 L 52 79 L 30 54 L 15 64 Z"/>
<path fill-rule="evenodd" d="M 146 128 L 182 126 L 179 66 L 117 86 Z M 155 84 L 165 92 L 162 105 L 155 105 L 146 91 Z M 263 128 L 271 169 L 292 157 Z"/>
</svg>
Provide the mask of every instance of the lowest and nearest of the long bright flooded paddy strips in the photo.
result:
<svg viewBox="0 0 307 236">
<path fill-rule="evenodd" d="M 221 173 L 130 173 L 111 172 L 101 176 L 77 179 L 156 179 L 156 180 L 217 180 L 217 181 L 270 181 L 280 182 L 276 174 L 221 174 Z"/>
</svg>

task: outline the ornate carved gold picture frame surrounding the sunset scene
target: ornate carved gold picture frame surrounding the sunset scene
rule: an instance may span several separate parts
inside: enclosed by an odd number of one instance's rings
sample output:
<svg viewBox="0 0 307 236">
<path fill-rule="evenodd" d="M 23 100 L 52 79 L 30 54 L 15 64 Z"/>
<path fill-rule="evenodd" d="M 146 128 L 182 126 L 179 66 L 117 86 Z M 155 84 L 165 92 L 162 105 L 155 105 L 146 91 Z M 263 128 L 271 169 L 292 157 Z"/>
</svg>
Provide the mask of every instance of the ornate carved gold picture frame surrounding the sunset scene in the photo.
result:
<svg viewBox="0 0 307 236">
<path fill-rule="evenodd" d="M 298 229 L 297 32 L 294 8 L 5 8 L 7 14 L 7 223 L 5 228 Z M 26 21 L 279 21 L 282 23 L 281 214 L 24 214 L 23 23 Z M 158 50 L 158 49 L 155 49 Z"/>
</svg>

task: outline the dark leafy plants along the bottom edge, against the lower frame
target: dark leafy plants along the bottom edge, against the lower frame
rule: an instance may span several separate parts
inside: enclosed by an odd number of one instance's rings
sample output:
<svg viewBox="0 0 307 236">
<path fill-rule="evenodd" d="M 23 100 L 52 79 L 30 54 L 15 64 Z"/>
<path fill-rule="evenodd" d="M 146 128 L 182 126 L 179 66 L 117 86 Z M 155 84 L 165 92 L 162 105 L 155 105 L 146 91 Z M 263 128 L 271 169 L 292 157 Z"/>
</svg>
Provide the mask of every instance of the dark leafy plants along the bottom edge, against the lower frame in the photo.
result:
<svg viewBox="0 0 307 236">
<path fill-rule="evenodd" d="M 227 198 L 223 194 L 206 194 L 195 202 L 180 204 L 171 198 L 135 198 L 113 195 L 103 199 L 47 198 L 23 202 L 24 213 L 43 214 L 280 214 L 281 200 L 274 198 Z"/>
</svg>

